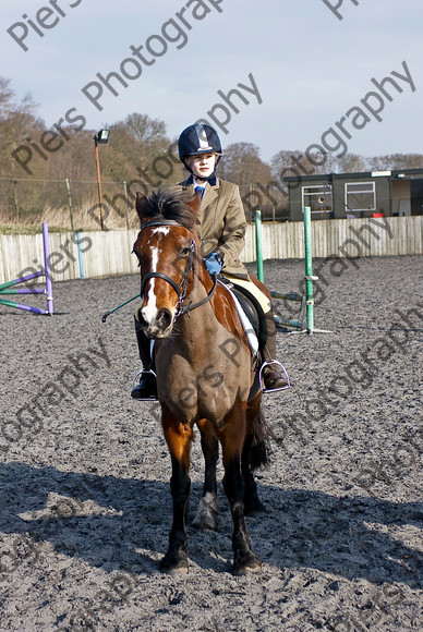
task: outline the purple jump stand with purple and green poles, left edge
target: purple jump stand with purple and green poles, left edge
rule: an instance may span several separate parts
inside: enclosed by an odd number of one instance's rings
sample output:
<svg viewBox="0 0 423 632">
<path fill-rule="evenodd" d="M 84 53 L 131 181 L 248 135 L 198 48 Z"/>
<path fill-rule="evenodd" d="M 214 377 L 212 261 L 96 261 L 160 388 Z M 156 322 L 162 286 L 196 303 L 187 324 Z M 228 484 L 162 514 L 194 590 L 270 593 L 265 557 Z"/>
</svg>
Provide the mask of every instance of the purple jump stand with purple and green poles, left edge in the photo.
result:
<svg viewBox="0 0 423 632">
<path fill-rule="evenodd" d="M 53 315 L 53 299 L 52 299 L 52 282 L 51 272 L 49 266 L 50 256 L 50 244 L 48 236 L 48 224 L 43 224 L 43 250 L 44 250 L 44 271 L 34 272 L 32 275 L 25 275 L 13 281 L 8 281 L 7 283 L 0 284 L 0 305 L 7 305 L 8 307 L 16 307 L 17 309 L 24 309 L 26 312 L 32 312 L 33 314 L 48 314 Z M 21 283 L 26 283 L 32 279 L 38 277 L 46 277 L 46 288 L 16 288 Z M 31 305 L 25 305 L 24 303 L 15 303 L 14 301 L 8 301 L 2 299 L 5 294 L 47 294 L 47 309 L 40 309 L 39 307 L 33 307 Z"/>
</svg>

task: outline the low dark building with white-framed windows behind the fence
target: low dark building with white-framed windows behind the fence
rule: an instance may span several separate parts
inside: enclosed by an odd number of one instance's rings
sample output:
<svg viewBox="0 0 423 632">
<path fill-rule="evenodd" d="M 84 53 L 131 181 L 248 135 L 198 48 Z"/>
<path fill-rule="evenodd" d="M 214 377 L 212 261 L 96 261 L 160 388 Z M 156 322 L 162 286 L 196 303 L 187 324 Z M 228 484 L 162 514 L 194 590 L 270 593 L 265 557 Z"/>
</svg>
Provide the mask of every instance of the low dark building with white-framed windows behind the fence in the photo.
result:
<svg viewBox="0 0 423 632">
<path fill-rule="evenodd" d="M 312 219 L 423 215 L 423 169 L 326 173 L 286 178 L 289 218 Z"/>
</svg>

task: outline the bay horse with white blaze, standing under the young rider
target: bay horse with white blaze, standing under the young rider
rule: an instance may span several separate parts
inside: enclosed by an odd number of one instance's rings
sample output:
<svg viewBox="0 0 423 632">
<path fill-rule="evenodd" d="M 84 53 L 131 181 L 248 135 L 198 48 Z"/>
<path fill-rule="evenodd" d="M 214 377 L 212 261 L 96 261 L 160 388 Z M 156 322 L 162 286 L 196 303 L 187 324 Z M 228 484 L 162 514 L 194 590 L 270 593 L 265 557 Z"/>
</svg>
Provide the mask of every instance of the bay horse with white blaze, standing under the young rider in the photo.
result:
<svg viewBox="0 0 423 632">
<path fill-rule="evenodd" d="M 244 513 L 264 509 L 253 470 L 267 463 L 268 436 L 257 367 L 233 297 L 216 276 L 210 277 L 200 255 L 195 231 L 200 202 L 198 194 L 190 199 L 177 189 L 136 195 L 141 230 L 133 252 L 141 268 L 142 297 L 136 316 L 146 336 L 155 340 L 161 424 L 172 464 L 173 520 L 160 570 L 188 571 L 190 447 L 196 425 L 205 483 L 194 525 L 217 526 L 220 442 L 223 489 L 233 522 L 233 572 L 241 574 L 261 569 L 251 550 Z"/>
</svg>

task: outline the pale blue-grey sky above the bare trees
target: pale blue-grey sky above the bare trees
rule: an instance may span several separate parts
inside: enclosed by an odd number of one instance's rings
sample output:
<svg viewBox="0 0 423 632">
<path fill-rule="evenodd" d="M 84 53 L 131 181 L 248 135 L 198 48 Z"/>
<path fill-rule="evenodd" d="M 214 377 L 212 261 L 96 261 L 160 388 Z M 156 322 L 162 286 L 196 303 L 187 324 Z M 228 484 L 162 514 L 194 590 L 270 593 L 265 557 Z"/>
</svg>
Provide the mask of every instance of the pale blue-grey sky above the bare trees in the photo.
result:
<svg viewBox="0 0 423 632">
<path fill-rule="evenodd" d="M 423 153 L 420 0 L 2 0 L 0 15 L 0 75 L 46 130 L 141 112 L 170 138 L 205 119 L 265 161 L 323 137 L 335 154 Z"/>
</svg>

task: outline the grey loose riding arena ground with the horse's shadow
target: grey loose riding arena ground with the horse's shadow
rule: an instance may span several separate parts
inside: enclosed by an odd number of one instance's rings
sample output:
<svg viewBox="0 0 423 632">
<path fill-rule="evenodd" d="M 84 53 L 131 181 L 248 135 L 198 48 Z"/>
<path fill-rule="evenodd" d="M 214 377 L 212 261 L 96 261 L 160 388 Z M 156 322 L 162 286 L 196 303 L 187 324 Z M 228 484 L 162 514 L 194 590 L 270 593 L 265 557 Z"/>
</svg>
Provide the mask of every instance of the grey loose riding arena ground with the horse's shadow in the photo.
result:
<svg viewBox="0 0 423 632">
<path fill-rule="evenodd" d="M 275 290 L 303 274 L 265 264 Z M 129 397 L 132 307 L 100 318 L 137 277 L 57 283 L 52 318 L 0 306 L 0 630 L 422 630 L 421 281 L 419 257 L 326 263 L 331 333 L 278 333 L 293 388 L 265 397 L 267 512 L 247 519 L 263 572 L 241 578 L 220 484 L 219 531 L 190 526 L 189 573 L 158 571 L 169 457 L 157 406 Z"/>
</svg>

